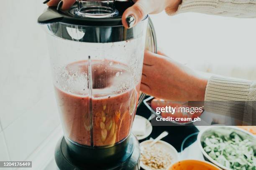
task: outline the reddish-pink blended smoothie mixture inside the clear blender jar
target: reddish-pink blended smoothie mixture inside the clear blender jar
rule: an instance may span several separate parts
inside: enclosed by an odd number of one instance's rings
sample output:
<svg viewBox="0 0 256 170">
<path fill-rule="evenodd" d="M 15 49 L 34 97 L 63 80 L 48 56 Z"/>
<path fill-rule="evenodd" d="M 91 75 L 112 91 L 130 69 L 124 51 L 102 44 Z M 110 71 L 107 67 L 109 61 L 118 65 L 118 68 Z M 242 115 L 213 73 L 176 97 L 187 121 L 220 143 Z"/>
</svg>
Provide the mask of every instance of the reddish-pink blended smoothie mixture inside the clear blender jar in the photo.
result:
<svg viewBox="0 0 256 170">
<path fill-rule="evenodd" d="M 79 61 L 61 70 L 55 87 L 66 137 L 90 146 L 124 140 L 131 131 L 140 88 L 127 66 L 93 60 L 91 66 Z"/>
</svg>

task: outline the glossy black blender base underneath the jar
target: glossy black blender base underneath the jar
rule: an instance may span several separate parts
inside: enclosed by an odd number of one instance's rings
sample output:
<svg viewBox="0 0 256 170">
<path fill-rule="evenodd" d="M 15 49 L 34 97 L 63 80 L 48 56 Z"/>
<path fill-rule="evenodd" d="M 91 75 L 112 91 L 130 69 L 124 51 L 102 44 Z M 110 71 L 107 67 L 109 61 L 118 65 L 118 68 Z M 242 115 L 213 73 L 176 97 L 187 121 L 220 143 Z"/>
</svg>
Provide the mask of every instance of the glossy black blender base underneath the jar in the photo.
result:
<svg viewBox="0 0 256 170">
<path fill-rule="evenodd" d="M 60 170 L 139 170 L 140 147 L 131 133 L 125 155 L 113 163 L 82 163 L 68 152 L 66 140 L 61 138 L 56 145 L 55 161 Z M 86 161 L 85 161 L 86 162 Z"/>
</svg>

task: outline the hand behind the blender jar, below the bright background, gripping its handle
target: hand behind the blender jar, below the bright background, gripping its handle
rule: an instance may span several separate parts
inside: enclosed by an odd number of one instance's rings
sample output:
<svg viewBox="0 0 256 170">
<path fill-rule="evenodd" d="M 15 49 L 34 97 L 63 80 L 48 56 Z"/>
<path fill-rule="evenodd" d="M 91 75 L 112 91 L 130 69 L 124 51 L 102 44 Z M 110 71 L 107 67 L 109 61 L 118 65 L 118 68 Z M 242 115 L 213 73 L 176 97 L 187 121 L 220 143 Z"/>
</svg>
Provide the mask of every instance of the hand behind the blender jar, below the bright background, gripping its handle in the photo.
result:
<svg viewBox="0 0 256 170">
<path fill-rule="evenodd" d="M 145 51 L 141 91 L 164 100 L 204 101 L 207 80 L 163 53 Z"/>
</svg>

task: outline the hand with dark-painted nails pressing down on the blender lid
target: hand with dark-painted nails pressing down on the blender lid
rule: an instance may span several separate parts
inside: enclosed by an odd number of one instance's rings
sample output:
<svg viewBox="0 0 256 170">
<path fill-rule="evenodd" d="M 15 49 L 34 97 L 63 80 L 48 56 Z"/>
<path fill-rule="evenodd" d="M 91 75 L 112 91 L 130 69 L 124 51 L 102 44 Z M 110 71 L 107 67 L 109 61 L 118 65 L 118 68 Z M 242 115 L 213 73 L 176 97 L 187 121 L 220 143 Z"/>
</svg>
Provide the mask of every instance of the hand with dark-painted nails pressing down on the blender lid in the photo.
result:
<svg viewBox="0 0 256 170">
<path fill-rule="evenodd" d="M 48 6 L 57 6 L 58 10 L 69 9 L 76 0 L 46 0 Z M 132 28 L 148 14 L 161 13 L 166 7 L 175 13 L 182 0 L 133 0 L 135 4 L 129 7 L 122 16 L 125 28 Z"/>
</svg>

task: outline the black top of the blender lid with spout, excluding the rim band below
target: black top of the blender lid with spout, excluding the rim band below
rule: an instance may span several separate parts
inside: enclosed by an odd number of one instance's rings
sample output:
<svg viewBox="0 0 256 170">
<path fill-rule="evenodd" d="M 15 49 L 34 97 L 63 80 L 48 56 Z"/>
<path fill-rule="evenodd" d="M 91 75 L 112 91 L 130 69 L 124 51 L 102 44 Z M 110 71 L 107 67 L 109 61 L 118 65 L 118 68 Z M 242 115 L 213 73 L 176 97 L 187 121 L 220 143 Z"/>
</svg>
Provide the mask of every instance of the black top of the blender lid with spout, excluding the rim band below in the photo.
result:
<svg viewBox="0 0 256 170">
<path fill-rule="evenodd" d="M 110 2 L 112 6 L 110 6 Z M 88 6 L 89 3 L 90 6 Z M 60 22 L 84 26 L 121 26 L 123 12 L 132 5 L 132 0 L 78 0 L 69 10 L 65 11 L 49 7 L 38 18 L 38 23 Z"/>
</svg>

